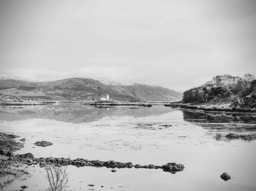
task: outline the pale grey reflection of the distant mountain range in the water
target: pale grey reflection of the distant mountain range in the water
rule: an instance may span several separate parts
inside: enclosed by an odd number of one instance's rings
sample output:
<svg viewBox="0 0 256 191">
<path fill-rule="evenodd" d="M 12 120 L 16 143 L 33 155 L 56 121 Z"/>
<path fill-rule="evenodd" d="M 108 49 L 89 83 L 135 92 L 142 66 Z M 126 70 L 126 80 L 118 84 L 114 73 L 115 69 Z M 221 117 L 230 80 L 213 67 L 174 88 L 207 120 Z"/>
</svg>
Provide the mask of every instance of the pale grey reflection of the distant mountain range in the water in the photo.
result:
<svg viewBox="0 0 256 191">
<path fill-rule="evenodd" d="M 25 108 L 0 108 L 1 119 L 23 120 L 23 119 L 53 119 L 62 122 L 82 123 L 93 122 L 102 119 L 105 116 L 134 116 L 146 117 L 151 115 L 162 115 L 172 112 L 163 106 L 154 106 L 150 108 L 130 109 L 125 107 L 118 108 L 96 108 L 82 104 L 54 104 L 32 106 Z"/>
</svg>

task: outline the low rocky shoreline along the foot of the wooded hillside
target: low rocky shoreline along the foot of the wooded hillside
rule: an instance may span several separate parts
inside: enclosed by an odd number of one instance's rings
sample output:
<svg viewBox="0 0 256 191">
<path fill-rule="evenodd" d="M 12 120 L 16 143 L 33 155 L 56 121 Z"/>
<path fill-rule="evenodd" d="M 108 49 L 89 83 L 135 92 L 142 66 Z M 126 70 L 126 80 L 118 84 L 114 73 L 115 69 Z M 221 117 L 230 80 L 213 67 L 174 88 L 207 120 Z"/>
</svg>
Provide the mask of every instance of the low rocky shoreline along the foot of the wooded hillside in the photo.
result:
<svg viewBox="0 0 256 191">
<path fill-rule="evenodd" d="M 165 104 L 165 107 L 182 108 L 188 110 L 204 110 L 204 111 L 219 111 L 219 112 L 237 112 L 237 113 L 256 113 L 256 108 L 241 108 L 235 107 L 233 104 L 191 104 L 182 102 L 171 102 Z"/>
</svg>

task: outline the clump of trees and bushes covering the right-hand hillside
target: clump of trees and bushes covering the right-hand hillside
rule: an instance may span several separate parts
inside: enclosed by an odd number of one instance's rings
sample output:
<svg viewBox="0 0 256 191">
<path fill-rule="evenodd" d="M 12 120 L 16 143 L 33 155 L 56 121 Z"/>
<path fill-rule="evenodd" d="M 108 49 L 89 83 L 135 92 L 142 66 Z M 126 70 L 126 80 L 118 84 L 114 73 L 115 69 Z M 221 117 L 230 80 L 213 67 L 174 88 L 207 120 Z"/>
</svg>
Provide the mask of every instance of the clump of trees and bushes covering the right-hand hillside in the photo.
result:
<svg viewBox="0 0 256 191">
<path fill-rule="evenodd" d="M 194 87 L 183 93 L 184 103 L 206 103 L 223 98 L 239 101 L 250 93 L 256 93 L 255 76 L 245 74 L 242 78 L 229 74 L 217 75 L 200 87 Z"/>
</svg>

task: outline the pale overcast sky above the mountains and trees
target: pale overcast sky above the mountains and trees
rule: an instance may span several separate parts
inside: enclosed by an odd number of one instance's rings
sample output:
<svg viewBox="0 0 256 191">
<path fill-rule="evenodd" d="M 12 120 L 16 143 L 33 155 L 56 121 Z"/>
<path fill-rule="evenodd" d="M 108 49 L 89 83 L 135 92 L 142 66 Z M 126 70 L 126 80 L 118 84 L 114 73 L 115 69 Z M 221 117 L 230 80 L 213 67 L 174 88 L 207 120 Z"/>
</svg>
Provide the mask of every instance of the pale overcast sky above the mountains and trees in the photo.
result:
<svg viewBox="0 0 256 191">
<path fill-rule="evenodd" d="M 0 73 L 184 91 L 256 75 L 255 0 L 0 0 Z"/>
</svg>

